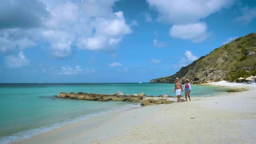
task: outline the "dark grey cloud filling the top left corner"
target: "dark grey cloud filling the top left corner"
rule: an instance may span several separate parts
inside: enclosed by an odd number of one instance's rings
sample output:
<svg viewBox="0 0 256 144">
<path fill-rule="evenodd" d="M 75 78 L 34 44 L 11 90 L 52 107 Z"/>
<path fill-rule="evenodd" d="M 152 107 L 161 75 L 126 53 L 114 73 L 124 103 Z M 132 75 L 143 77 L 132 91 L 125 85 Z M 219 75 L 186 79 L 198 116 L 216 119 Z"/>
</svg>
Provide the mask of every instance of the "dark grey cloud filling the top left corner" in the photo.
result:
<svg viewBox="0 0 256 144">
<path fill-rule="evenodd" d="M 37 0 L 4 0 L 0 4 L 0 29 L 41 27 L 49 16 L 46 5 Z"/>
</svg>

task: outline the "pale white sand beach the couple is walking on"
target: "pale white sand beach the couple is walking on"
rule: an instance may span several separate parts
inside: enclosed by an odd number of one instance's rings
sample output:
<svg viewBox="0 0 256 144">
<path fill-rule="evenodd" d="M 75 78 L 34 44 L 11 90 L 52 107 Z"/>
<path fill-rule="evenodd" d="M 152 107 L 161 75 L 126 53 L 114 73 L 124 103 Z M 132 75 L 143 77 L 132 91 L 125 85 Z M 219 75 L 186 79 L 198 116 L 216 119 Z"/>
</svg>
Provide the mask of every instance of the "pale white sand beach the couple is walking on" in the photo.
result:
<svg viewBox="0 0 256 144">
<path fill-rule="evenodd" d="M 191 101 L 99 115 L 17 144 L 256 143 L 256 85 L 211 85 L 249 91 L 203 98 L 192 93 Z"/>
</svg>

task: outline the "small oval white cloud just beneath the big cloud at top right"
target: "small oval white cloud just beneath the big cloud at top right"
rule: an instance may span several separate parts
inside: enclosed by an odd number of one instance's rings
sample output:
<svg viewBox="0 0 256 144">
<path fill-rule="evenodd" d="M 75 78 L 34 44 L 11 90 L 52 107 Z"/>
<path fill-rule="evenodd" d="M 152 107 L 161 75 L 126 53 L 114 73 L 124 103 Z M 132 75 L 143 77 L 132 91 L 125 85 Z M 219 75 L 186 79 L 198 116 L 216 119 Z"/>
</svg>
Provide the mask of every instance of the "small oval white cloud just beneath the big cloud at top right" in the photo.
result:
<svg viewBox="0 0 256 144">
<path fill-rule="evenodd" d="M 169 35 L 173 38 L 192 40 L 193 43 L 202 42 L 209 36 L 207 24 L 204 22 L 173 25 L 169 30 Z"/>
</svg>

